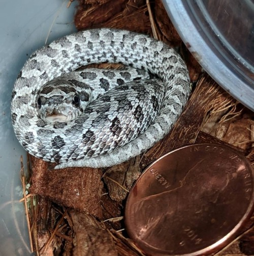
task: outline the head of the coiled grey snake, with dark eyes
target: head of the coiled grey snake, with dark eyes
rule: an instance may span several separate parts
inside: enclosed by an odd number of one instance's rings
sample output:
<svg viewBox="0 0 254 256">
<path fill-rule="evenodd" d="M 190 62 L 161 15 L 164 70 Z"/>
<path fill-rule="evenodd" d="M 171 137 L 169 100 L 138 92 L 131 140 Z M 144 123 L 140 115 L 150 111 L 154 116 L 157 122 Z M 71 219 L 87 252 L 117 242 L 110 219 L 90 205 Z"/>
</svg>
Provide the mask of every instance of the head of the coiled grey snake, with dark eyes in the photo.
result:
<svg viewBox="0 0 254 256">
<path fill-rule="evenodd" d="M 38 113 L 47 123 L 69 122 L 81 115 L 90 94 L 82 92 L 67 80 L 54 79 L 45 84 L 38 94 Z"/>
</svg>

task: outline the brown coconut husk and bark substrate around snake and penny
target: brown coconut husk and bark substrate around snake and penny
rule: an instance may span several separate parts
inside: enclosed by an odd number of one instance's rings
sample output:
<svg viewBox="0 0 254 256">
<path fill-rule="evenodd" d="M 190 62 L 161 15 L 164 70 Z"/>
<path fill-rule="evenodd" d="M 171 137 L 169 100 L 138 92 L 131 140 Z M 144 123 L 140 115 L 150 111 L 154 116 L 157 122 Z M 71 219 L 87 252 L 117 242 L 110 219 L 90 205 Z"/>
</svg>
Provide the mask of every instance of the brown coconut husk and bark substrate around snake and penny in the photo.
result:
<svg viewBox="0 0 254 256">
<path fill-rule="evenodd" d="M 175 47 L 187 64 L 193 92 L 172 131 L 128 162 L 106 169 L 54 170 L 30 157 L 30 178 L 22 175 L 22 181 L 31 184 L 24 196 L 31 251 L 37 255 L 145 255 L 126 234 L 123 221 L 126 196 L 140 173 L 170 150 L 192 143 L 230 145 L 254 165 L 254 113 L 202 69 L 161 1 L 80 0 L 74 20 L 78 30 L 126 29 Z M 252 227 L 253 218 L 216 255 L 254 254 Z"/>
</svg>

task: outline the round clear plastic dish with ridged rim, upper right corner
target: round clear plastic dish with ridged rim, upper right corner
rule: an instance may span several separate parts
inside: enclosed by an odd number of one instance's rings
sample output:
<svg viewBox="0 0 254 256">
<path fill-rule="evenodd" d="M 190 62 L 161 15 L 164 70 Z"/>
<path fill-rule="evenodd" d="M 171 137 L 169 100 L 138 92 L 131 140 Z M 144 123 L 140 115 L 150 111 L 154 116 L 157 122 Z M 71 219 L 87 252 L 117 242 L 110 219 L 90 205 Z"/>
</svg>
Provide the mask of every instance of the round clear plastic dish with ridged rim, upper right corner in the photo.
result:
<svg viewBox="0 0 254 256">
<path fill-rule="evenodd" d="M 254 111 L 254 2 L 163 0 L 183 42 L 212 78 Z"/>
</svg>

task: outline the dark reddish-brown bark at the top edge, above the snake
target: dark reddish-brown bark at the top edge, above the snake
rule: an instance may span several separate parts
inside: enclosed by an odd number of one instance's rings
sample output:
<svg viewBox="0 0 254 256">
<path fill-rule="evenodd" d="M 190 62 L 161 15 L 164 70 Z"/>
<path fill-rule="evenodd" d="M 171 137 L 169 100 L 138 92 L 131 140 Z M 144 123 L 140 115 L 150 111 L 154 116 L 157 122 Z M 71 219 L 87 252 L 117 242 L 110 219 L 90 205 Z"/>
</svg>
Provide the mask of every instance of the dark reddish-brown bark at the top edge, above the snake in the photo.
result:
<svg viewBox="0 0 254 256">
<path fill-rule="evenodd" d="M 78 30 L 105 27 L 143 33 L 150 33 L 151 30 L 145 0 L 105 0 L 92 5 L 82 3 L 75 15 L 75 25 Z"/>
</svg>

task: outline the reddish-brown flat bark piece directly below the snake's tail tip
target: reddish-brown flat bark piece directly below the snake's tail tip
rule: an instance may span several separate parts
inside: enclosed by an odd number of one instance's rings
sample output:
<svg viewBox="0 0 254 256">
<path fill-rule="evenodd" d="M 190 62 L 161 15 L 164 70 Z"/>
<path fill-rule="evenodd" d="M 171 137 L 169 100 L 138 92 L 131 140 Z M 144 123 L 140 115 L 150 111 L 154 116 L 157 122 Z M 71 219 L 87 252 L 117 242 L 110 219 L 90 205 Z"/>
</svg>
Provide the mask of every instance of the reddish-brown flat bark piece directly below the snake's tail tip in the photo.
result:
<svg viewBox="0 0 254 256">
<path fill-rule="evenodd" d="M 61 206 L 102 217 L 100 200 L 103 183 L 102 170 L 65 168 L 49 170 L 48 163 L 32 157 L 33 185 L 30 192 L 47 196 Z"/>
</svg>

